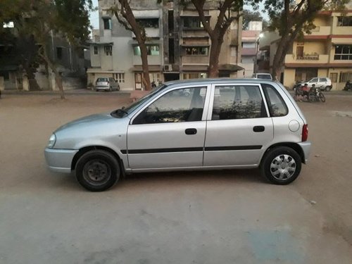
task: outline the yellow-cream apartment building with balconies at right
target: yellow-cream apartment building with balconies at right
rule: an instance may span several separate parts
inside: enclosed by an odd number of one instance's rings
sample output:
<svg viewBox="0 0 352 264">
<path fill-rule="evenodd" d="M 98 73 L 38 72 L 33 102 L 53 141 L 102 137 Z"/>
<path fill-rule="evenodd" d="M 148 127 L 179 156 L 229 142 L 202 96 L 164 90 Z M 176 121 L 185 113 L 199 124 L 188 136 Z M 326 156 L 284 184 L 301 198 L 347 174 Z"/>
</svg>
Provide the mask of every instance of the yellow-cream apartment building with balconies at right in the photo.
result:
<svg viewBox="0 0 352 264">
<path fill-rule="evenodd" d="M 315 29 L 294 42 L 285 57 L 283 83 L 292 87 L 294 82 L 312 77 L 329 77 L 332 89 L 341 90 L 352 80 L 352 4 L 346 13 L 321 11 L 314 20 Z M 270 46 L 270 65 L 277 41 Z"/>
</svg>

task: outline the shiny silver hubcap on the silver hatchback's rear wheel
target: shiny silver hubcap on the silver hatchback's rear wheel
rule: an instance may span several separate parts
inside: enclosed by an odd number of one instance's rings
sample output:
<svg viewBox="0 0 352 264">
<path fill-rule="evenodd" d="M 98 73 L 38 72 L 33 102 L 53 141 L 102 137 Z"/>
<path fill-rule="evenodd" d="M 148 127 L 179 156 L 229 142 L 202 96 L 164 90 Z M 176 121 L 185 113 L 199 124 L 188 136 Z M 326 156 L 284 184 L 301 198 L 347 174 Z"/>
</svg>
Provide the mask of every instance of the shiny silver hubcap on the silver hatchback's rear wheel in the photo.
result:
<svg viewBox="0 0 352 264">
<path fill-rule="evenodd" d="M 287 154 L 275 157 L 270 163 L 270 173 L 277 180 L 285 181 L 294 176 L 296 161 Z"/>
</svg>

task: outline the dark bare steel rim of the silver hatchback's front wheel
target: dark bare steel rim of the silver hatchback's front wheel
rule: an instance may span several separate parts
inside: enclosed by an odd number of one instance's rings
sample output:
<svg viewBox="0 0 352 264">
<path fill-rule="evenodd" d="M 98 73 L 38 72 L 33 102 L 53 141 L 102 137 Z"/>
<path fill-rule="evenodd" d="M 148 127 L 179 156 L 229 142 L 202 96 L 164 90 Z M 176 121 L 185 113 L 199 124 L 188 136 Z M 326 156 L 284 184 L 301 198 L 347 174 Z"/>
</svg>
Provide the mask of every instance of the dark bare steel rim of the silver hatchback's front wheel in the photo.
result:
<svg viewBox="0 0 352 264">
<path fill-rule="evenodd" d="M 89 161 L 83 168 L 84 180 L 94 186 L 106 184 L 111 178 L 111 168 L 108 163 L 101 160 Z"/>
</svg>

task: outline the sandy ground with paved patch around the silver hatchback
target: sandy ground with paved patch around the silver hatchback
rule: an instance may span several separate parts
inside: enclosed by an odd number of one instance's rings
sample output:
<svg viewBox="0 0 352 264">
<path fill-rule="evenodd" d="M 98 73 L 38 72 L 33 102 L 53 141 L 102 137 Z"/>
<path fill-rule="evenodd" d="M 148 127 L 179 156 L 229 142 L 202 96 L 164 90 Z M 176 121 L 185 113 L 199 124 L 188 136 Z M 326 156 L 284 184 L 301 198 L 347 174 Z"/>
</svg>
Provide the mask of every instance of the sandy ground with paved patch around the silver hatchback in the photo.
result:
<svg viewBox="0 0 352 264">
<path fill-rule="evenodd" d="M 257 170 L 132 175 L 102 193 L 46 170 L 51 132 L 128 94 L 3 94 L 0 263 L 352 263 L 352 96 L 299 105 L 313 153 L 289 186 Z"/>
</svg>

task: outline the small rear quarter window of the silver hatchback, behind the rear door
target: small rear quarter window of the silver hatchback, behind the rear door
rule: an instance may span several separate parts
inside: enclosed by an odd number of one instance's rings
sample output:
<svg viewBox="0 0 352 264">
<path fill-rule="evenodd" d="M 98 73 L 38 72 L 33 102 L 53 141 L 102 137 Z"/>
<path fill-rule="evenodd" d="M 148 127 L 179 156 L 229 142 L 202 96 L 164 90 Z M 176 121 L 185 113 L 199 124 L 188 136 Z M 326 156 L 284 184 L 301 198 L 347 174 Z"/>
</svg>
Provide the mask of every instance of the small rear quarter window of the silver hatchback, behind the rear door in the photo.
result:
<svg viewBox="0 0 352 264">
<path fill-rule="evenodd" d="M 261 84 L 268 103 L 269 113 L 272 118 L 284 116 L 289 113 L 284 99 L 277 90 L 270 84 Z"/>
</svg>

